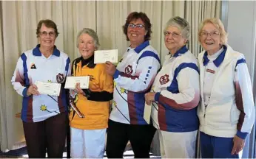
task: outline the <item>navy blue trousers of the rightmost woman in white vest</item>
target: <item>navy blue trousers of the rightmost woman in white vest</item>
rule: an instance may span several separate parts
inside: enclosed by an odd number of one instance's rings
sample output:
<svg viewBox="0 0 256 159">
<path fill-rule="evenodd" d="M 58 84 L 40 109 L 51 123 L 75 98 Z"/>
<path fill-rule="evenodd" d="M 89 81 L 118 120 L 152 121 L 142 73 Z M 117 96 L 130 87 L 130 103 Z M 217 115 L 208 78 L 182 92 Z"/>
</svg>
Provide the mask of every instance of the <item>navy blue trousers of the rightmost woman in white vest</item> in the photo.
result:
<svg viewBox="0 0 256 159">
<path fill-rule="evenodd" d="M 231 155 L 233 138 L 221 138 L 200 132 L 202 158 L 239 158 Z"/>
</svg>

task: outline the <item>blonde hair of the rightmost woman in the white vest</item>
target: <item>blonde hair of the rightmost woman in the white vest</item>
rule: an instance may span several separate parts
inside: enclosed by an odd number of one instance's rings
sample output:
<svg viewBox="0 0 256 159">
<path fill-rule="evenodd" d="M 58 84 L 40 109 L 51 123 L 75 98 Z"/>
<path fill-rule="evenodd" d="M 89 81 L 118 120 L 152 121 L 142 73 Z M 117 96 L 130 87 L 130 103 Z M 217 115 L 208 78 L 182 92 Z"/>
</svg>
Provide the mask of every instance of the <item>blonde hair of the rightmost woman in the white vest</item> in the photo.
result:
<svg viewBox="0 0 256 159">
<path fill-rule="evenodd" d="M 201 43 L 201 32 L 203 26 L 206 24 L 213 24 L 220 31 L 220 44 L 226 44 L 228 40 L 228 33 L 225 31 L 222 21 L 219 18 L 206 18 L 199 26 L 198 41 Z"/>
</svg>

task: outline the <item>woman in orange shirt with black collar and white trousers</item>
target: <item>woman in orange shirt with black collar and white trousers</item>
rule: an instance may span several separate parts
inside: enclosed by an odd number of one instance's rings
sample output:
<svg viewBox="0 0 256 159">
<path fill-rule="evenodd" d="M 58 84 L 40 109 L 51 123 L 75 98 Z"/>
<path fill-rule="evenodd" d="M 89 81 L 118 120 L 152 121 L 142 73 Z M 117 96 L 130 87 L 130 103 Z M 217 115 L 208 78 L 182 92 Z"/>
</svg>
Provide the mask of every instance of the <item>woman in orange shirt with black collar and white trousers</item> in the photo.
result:
<svg viewBox="0 0 256 159">
<path fill-rule="evenodd" d="M 89 89 L 81 89 L 77 83 L 75 90 L 70 90 L 72 158 L 104 157 L 113 79 L 105 71 L 105 64 L 94 64 L 94 51 L 99 46 L 94 30 L 84 28 L 78 32 L 81 57 L 73 61 L 72 76 L 90 76 L 90 82 Z"/>
</svg>

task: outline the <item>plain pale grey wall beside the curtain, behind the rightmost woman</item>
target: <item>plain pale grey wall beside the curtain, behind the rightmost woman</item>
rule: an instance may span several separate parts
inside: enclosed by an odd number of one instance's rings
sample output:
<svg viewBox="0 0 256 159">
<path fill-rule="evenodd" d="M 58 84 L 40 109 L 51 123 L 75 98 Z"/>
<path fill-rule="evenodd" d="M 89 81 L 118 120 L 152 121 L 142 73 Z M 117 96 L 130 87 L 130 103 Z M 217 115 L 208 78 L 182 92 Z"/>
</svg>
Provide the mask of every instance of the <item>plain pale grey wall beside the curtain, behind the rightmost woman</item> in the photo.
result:
<svg viewBox="0 0 256 159">
<path fill-rule="evenodd" d="M 232 46 L 232 49 L 245 55 L 249 73 L 253 77 L 255 68 L 256 3 L 255 1 L 228 1 L 227 4 L 227 17 L 224 23 L 226 23 L 226 29 L 229 33 L 228 43 Z"/>
</svg>

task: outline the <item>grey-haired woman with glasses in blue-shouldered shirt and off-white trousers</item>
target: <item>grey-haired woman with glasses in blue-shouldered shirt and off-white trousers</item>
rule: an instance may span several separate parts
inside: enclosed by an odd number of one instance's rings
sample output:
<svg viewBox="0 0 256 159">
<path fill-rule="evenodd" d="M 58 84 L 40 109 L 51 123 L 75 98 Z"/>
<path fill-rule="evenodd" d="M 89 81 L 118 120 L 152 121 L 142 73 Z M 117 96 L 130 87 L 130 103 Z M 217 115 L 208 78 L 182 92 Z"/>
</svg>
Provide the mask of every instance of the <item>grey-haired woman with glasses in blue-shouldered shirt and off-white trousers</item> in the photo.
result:
<svg viewBox="0 0 256 159">
<path fill-rule="evenodd" d="M 195 56 L 186 48 L 189 34 L 189 23 L 181 17 L 166 23 L 164 43 L 169 54 L 152 92 L 145 95 L 159 130 L 162 158 L 195 158 L 199 71 Z"/>
</svg>

